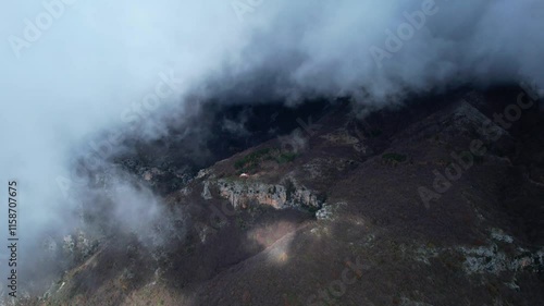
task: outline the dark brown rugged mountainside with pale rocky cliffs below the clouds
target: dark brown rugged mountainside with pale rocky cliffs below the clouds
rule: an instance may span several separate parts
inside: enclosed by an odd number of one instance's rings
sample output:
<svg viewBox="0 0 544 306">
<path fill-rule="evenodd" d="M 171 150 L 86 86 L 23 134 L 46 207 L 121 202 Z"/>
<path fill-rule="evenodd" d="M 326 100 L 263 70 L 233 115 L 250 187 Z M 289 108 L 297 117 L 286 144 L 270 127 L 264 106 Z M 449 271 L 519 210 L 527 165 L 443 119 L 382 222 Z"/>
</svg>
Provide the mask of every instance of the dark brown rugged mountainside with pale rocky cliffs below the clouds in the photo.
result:
<svg viewBox="0 0 544 306">
<path fill-rule="evenodd" d="M 371 112 L 347 98 L 254 110 L 242 125 L 262 121 L 258 137 L 211 139 L 215 155 L 191 164 L 213 164 L 198 172 L 181 171 L 183 139 L 141 146 L 145 161 L 119 163 L 177 213 L 170 243 L 102 237 L 24 303 L 540 305 L 544 113 L 534 102 L 508 121 L 520 93 L 461 89 Z M 505 111 L 507 124 L 496 122 Z"/>
</svg>

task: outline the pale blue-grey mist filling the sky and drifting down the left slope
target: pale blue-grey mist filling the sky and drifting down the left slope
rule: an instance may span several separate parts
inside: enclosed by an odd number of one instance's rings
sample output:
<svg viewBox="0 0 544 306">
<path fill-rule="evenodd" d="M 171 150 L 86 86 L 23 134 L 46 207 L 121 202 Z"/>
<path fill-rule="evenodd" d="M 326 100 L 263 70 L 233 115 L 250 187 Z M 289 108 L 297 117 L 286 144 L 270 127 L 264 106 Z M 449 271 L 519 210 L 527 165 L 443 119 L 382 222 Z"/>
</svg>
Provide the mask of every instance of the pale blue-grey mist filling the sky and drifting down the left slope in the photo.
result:
<svg viewBox="0 0 544 306">
<path fill-rule="evenodd" d="M 132 149 L 123 139 L 169 135 L 165 118 L 212 98 L 381 108 L 466 84 L 543 88 L 543 13 L 539 0 L 4 3 L 0 176 L 20 186 L 21 270 L 35 268 L 44 233 L 81 227 L 96 194 L 78 162 L 113 168 L 108 158 Z M 112 172 L 112 218 L 146 232 L 162 200 Z"/>
</svg>

